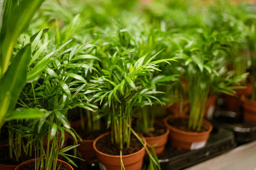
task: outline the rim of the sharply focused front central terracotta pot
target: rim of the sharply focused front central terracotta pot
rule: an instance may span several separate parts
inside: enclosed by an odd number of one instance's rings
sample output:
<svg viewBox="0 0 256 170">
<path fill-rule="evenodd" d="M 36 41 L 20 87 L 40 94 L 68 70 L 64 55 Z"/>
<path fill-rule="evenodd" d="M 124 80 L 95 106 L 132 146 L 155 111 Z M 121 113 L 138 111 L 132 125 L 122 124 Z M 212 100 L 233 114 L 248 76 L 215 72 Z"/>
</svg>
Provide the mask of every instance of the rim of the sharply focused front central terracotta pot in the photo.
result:
<svg viewBox="0 0 256 170">
<path fill-rule="evenodd" d="M 97 147 L 96 147 L 97 141 L 99 141 L 100 138 L 103 138 L 104 136 L 108 135 L 109 133 L 110 133 L 110 132 L 106 132 L 106 133 L 101 134 L 100 136 L 98 136 L 98 137 L 93 141 L 93 148 L 94 148 L 94 150 L 95 150 L 96 152 L 98 152 L 98 153 L 100 153 L 100 154 L 102 154 L 102 155 L 105 155 L 105 156 L 107 156 L 107 157 L 120 158 L 120 155 L 109 155 L 108 153 L 100 152 L 100 151 L 97 149 Z M 142 137 L 142 136 L 140 136 L 140 137 L 141 137 L 141 138 L 143 139 L 143 141 L 145 142 L 145 138 Z M 145 144 L 146 144 L 146 142 L 145 142 Z M 133 155 L 137 155 L 138 153 L 143 152 L 143 151 L 145 150 L 144 147 L 145 147 L 145 146 L 143 146 L 138 152 L 131 153 L 131 154 L 129 154 L 129 155 L 122 155 L 122 158 L 132 157 Z"/>
</svg>

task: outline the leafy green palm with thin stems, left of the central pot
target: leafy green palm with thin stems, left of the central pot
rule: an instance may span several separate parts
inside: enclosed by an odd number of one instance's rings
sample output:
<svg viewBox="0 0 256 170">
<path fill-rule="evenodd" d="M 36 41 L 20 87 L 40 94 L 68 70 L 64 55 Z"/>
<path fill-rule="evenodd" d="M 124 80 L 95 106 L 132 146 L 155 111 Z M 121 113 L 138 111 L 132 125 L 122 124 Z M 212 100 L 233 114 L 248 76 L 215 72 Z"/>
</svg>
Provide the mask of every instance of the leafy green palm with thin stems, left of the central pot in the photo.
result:
<svg viewBox="0 0 256 170">
<path fill-rule="evenodd" d="M 39 148 L 39 151 L 35 152 L 35 160 L 31 161 L 29 165 L 26 164 L 26 166 L 34 169 L 58 169 L 62 164 L 58 160 L 60 156 L 74 164 L 74 161 L 69 157 L 75 156 L 65 153 L 78 146 L 76 131 L 70 127 L 66 118 L 68 110 L 77 107 L 88 110 L 97 108 L 97 106 L 88 104 L 88 99 L 83 91 L 87 81 L 79 75 L 83 73 L 83 67 L 88 65 L 79 63 L 76 58 L 86 45 L 68 48 L 70 42 L 71 40 L 60 45 L 56 50 L 54 49 L 54 52 L 50 52 L 46 55 L 46 60 L 43 57 L 42 60 L 50 61 L 43 67 L 44 72 L 36 74 L 37 76 L 33 78 L 35 81 L 26 85 L 20 95 L 21 106 L 47 110 L 44 117 L 33 120 L 31 126 L 33 131 L 31 130 L 30 134 L 26 134 L 33 136 L 34 139 L 30 142 L 35 148 Z M 54 48 L 56 47 L 58 45 L 54 46 Z M 52 49 L 51 46 L 49 48 Z M 71 50 L 65 50 L 65 48 Z M 48 48 L 45 49 L 45 51 L 47 50 Z M 29 69 L 40 66 L 42 60 L 34 60 Z M 77 63 L 74 63 L 74 60 Z M 74 138 L 74 146 L 65 146 L 67 133 Z"/>
</svg>

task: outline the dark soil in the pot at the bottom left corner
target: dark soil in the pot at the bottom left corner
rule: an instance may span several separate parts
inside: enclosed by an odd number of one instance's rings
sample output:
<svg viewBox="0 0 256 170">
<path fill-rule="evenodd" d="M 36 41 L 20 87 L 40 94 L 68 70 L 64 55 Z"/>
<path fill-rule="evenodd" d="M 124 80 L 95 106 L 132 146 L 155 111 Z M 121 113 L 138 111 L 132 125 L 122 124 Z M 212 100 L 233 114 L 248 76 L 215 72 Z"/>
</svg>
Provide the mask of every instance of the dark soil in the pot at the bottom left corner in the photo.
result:
<svg viewBox="0 0 256 170">
<path fill-rule="evenodd" d="M 32 152 L 35 153 L 35 152 Z M 17 162 L 14 154 L 13 154 L 13 159 L 10 159 L 10 154 L 9 154 L 9 146 L 0 146 L 0 164 L 5 164 L 5 165 L 10 165 L 10 166 L 16 166 L 20 164 L 21 162 L 24 162 L 29 159 L 33 159 L 35 157 L 28 157 L 26 156 L 25 153 L 22 153 L 21 157 L 19 158 L 19 161 Z"/>
</svg>

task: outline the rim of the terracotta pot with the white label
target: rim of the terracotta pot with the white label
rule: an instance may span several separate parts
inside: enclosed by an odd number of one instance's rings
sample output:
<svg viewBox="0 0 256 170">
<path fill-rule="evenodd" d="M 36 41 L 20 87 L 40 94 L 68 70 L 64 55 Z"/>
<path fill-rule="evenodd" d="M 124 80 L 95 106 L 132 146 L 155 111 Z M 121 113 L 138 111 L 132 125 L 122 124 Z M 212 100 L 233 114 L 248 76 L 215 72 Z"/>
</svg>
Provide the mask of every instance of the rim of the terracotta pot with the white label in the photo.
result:
<svg viewBox="0 0 256 170">
<path fill-rule="evenodd" d="M 168 124 L 168 120 L 170 118 L 179 118 L 180 116 L 178 117 L 175 117 L 173 115 L 170 115 L 166 118 L 164 118 L 164 124 L 166 125 L 166 127 L 168 129 L 170 129 L 171 131 L 175 131 L 175 132 L 179 132 L 180 134 L 187 134 L 187 135 L 190 135 L 190 136 L 198 136 L 198 135 L 204 135 L 204 134 L 209 134 L 211 131 L 212 131 L 212 124 L 210 122 L 208 122 L 207 120 L 203 119 L 202 123 L 207 125 L 209 127 L 209 129 L 207 131 L 204 131 L 204 132 L 188 132 L 188 131 L 182 131 L 180 129 L 177 129 L 175 127 L 173 127 L 172 125 Z"/>
</svg>

